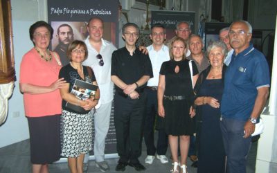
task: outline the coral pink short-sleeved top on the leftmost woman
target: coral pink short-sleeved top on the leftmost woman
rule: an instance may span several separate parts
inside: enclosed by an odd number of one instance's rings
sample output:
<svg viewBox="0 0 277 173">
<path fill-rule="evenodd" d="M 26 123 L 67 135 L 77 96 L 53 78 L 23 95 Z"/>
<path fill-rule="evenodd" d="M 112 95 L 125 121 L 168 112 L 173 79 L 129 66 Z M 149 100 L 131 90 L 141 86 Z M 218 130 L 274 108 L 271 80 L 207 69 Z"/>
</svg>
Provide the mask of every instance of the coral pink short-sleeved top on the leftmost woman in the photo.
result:
<svg viewBox="0 0 277 173">
<path fill-rule="evenodd" d="M 56 54 L 57 55 L 57 54 Z M 20 84 L 33 84 L 36 86 L 49 86 L 58 80 L 61 66 L 57 64 L 55 55 L 46 62 L 39 53 L 32 48 L 24 55 L 20 64 Z M 57 56 L 57 58 L 59 58 Z M 62 98 L 60 90 L 49 93 L 24 93 L 24 109 L 28 117 L 53 116 L 62 113 Z"/>
</svg>

